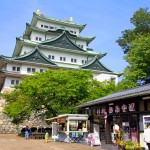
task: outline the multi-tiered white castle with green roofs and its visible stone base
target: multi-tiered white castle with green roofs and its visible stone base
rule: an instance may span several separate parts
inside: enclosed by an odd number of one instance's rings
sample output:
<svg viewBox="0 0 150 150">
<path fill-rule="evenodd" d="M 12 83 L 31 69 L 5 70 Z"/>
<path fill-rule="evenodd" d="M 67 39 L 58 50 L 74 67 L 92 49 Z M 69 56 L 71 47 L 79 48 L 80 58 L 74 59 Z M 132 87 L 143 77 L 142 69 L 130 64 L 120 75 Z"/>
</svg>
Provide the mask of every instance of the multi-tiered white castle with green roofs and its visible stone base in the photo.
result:
<svg viewBox="0 0 150 150">
<path fill-rule="evenodd" d="M 1 92 L 9 92 L 10 87 L 22 81 L 22 77 L 47 69 L 92 70 L 96 80 L 117 83 L 119 74 L 100 62 L 106 53 L 88 47 L 95 37 L 80 35 L 85 27 L 86 24 L 74 23 L 72 17 L 62 20 L 47 17 L 40 10 L 33 13 L 23 35 L 16 38 L 12 57 L 0 55 Z M 3 114 L 4 107 L 5 100 L 0 98 L 0 133 L 15 133 L 16 126 Z M 46 126 L 41 119 L 33 117 L 20 128 L 27 123 L 29 126 Z"/>
</svg>

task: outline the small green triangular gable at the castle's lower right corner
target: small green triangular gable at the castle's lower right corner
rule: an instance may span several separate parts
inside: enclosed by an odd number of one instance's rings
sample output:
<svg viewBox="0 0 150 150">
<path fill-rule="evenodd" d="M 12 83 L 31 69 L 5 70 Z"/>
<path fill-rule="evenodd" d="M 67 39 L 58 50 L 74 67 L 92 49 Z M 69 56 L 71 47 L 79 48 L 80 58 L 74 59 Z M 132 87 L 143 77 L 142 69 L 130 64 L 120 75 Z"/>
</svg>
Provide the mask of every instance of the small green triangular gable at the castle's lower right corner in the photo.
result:
<svg viewBox="0 0 150 150">
<path fill-rule="evenodd" d="M 106 55 L 106 54 L 104 54 Z M 110 69 L 106 68 L 98 59 L 98 56 L 95 56 L 92 60 L 88 61 L 84 65 L 81 65 L 80 68 L 98 70 L 104 72 L 112 72 Z"/>
</svg>

